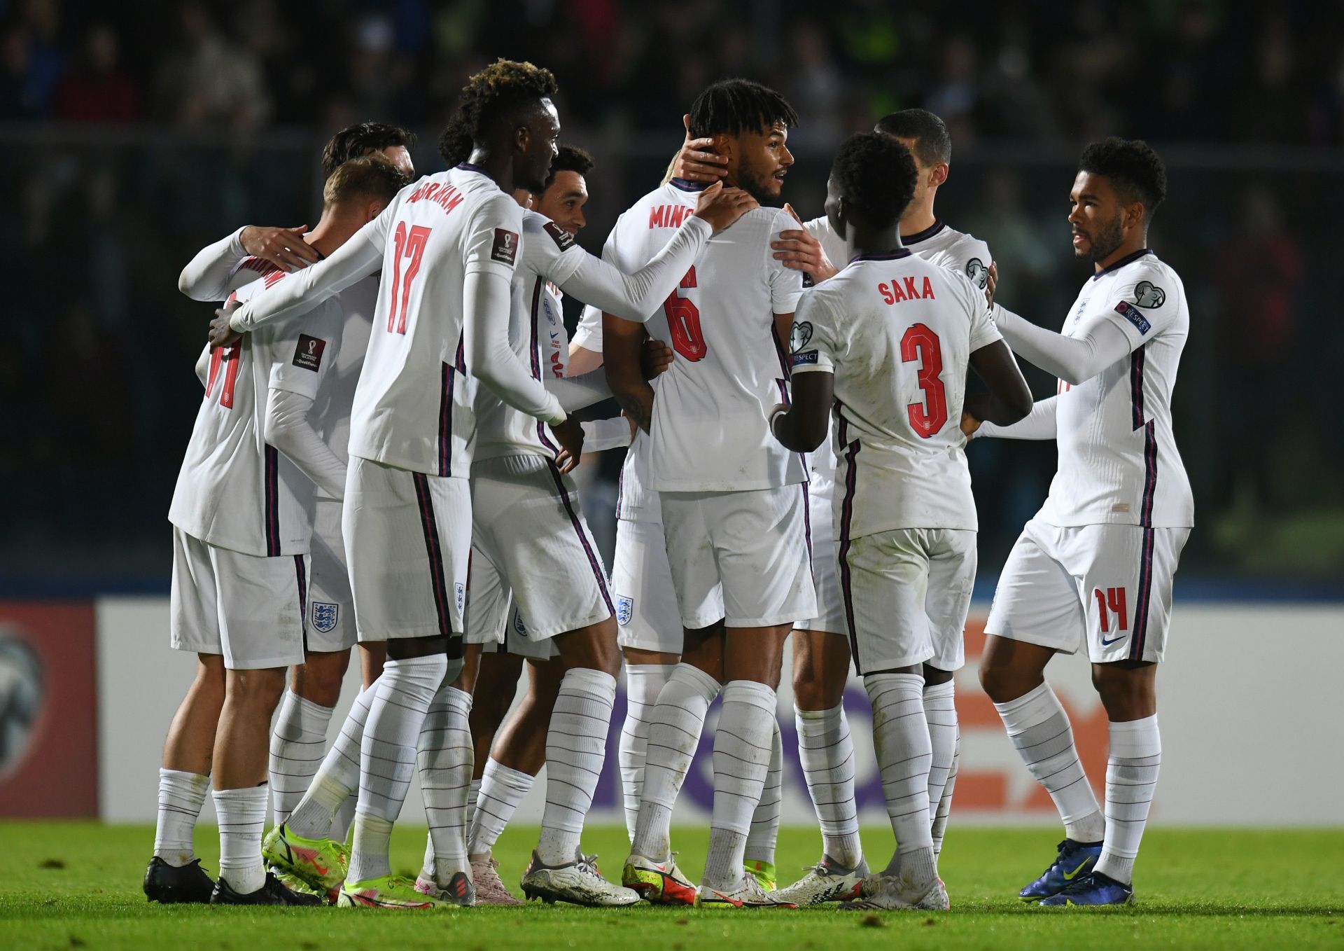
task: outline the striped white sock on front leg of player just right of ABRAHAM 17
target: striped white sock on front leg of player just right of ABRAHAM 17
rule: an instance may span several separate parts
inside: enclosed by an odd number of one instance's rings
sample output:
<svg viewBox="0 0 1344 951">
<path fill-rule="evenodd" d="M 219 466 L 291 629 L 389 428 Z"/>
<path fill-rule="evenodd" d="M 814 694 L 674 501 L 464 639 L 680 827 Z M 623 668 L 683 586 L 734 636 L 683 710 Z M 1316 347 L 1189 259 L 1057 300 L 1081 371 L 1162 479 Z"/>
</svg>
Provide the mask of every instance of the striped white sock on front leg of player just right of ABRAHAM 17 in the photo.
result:
<svg viewBox="0 0 1344 951">
<path fill-rule="evenodd" d="M 546 733 L 546 811 L 536 845 L 543 865 L 566 865 L 579 851 L 614 702 L 616 678 L 605 671 L 574 667 L 560 681 Z"/>
</svg>

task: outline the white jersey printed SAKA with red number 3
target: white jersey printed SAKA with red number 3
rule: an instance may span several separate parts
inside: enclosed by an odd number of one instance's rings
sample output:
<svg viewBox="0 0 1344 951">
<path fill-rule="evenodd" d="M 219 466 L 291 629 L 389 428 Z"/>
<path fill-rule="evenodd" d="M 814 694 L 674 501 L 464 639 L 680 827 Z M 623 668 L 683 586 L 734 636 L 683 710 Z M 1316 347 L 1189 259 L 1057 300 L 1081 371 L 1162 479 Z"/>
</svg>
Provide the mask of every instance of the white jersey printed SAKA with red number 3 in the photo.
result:
<svg viewBox="0 0 1344 951">
<path fill-rule="evenodd" d="M 974 530 L 966 369 L 1003 339 L 980 289 L 905 249 L 860 256 L 802 293 L 793 336 L 793 373 L 835 374 L 840 531 Z"/>
</svg>

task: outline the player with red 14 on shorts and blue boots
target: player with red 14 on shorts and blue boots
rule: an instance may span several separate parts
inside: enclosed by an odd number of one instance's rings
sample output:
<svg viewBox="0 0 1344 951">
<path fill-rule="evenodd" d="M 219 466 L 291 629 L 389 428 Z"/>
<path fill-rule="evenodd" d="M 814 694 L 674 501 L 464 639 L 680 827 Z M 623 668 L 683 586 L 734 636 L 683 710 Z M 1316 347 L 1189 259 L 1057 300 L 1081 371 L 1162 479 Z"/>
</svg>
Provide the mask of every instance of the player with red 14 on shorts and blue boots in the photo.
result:
<svg viewBox="0 0 1344 951">
<path fill-rule="evenodd" d="M 1157 663 L 1167 650 L 1172 580 L 1195 521 L 1172 434 L 1172 389 L 1189 332 L 1180 277 L 1148 246 L 1167 196 L 1161 159 L 1107 139 L 1078 163 L 1068 222 L 1093 276 L 1043 330 L 995 305 L 1004 339 L 1059 378 L 1015 426 L 976 436 L 1054 439 L 1059 471 L 1013 546 L 985 624 L 980 682 L 1031 775 L 1064 822 L 1056 860 L 1023 900 L 1111 905 L 1133 900 L 1132 872 L 1157 786 Z M 1110 720 L 1105 816 L 1044 681 L 1056 652 L 1087 651 Z"/>
</svg>

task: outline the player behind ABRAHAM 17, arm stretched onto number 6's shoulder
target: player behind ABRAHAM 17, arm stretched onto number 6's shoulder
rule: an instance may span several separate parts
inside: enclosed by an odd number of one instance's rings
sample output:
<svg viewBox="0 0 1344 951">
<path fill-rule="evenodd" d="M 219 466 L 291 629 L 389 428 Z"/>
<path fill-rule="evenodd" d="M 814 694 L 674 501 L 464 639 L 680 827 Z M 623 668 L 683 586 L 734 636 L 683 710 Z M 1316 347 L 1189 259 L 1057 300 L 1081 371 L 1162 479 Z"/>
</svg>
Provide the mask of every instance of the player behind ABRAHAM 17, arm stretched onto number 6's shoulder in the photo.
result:
<svg viewBox="0 0 1344 951">
<path fill-rule="evenodd" d="M 454 151 L 468 151 L 470 140 L 465 136 L 457 149 L 449 139 L 446 133 L 445 157 L 450 159 Z M 710 237 L 754 206 L 755 202 L 741 190 L 719 186 L 706 191 L 695 214 L 665 248 L 657 249 L 638 269 L 624 272 L 585 252 L 573 234 L 544 215 L 524 210 L 509 328 L 515 354 L 531 366 L 534 378 L 555 387 L 566 409 L 597 402 L 607 393 L 602 374 L 595 374 L 597 379 L 585 387 L 579 381 L 543 370 L 543 358 L 550 359 L 554 352 L 548 340 L 543 347 L 542 335 L 551 332 L 547 313 L 559 313 L 559 301 L 551 297 L 550 288 L 558 287 L 602 309 L 642 319 L 672 293 Z M 558 464 L 559 447 L 544 424 L 487 391 L 477 394 L 476 413 L 473 570 L 477 561 L 495 569 L 499 582 L 512 591 L 517 608 L 515 617 L 526 619 L 523 636 L 534 644 L 554 639 L 566 667 L 547 740 L 547 808 L 542 837 L 523 877 L 523 890 L 530 897 L 551 901 L 634 904 L 640 900 L 634 892 L 603 880 L 579 850 L 583 818 L 591 806 L 606 748 L 606 732 L 598 729 L 601 714 L 597 709 L 607 710 L 606 720 L 610 720 L 616 674 L 620 673 L 606 569 L 579 510 L 577 486 Z M 575 658 L 582 660 L 585 656 L 599 656 L 603 666 L 575 663 Z M 449 709 L 441 710 L 435 703 L 426 729 L 458 729 L 465 734 L 473 682 L 474 669 L 464 670 L 460 683 L 448 691 Z M 431 755 L 430 759 L 437 757 Z M 438 767 L 430 767 L 435 775 L 426 777 L 423 763 L 422 757 L 421 787 L 434 791 L 426 798 L 434 874 L 444 885 L 445 868 L 466 860 L 460 823 L 468 782 L 442 782 L 446 777 L 437 775 Z M 434 800 L 439 790 L 457 795 L 445 795 L 445 802 L 438 803 Z M 446 802 L 449 799 L 452 802 Z"/>
</svg>

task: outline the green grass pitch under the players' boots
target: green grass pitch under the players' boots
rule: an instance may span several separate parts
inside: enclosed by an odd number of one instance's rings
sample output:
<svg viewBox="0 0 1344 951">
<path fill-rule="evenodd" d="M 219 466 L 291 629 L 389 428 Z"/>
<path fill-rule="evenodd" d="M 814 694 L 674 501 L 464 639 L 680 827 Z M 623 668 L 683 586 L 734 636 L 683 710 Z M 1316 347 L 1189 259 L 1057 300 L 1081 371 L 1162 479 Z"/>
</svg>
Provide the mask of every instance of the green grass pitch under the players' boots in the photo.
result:
<svg viewBox="0 0 1344 951">
<path fill-rule="evenodd" d="M 516 886 L 535 827 L 505 833 L 496 855 Z M 679 827 L 681 864 L 695 877 L 706 831 Z M 696 912 L 569 905 L 474 908 L 431 913 L 363 909 L 235 909 L 149 905 L 140 880 L 148 827 L 95 823 L 0 823 L 0 948 L 128 948 L 132 951 L 371 951 L 372 948 L 629 948 L 630 951 L 825 951 L 837 948 L 1314 948 L 1344 947 L 1344 831 L 1153 829 L 1144 838 L 1132 908 L 1046 909 L 1023 905 L 1017 889 L 1054 854 L 1050 829 L 953 829 L 942 876 L 946 915 L 839 913 L 835 905 L 777 912 Z M 398 827 L 392 868 L 414 874 L 423 827 Z M 890 830 L 864 830 L 874 860 L 886 858 Z M 196 845 L 215 869 L 215 830 Z M 812 829 L 784 829 L 780 874 L 792 880 L 820 846 Z M 585 847 L 620 874 L 625 830 L 591 829 Z M 515 889 L 516 890 L 516 889 Z"/>
</svg>

